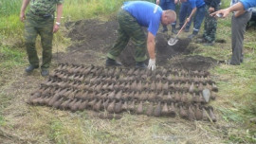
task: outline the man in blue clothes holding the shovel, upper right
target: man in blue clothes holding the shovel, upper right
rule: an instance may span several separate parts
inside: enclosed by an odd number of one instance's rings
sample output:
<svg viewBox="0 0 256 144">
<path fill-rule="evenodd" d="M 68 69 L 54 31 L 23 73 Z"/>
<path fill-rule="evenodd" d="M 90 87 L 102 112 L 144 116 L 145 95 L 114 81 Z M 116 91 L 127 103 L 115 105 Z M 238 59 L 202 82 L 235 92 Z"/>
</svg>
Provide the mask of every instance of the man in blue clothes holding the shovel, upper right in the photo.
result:
<svg viewBox="0 0 256 144">
<path fill-rule="evenodd" d="M 192 7 L 192 13 L 187 18 L 187 21 L 190 22 L 192 20 L 192 16 L 195 14 L 193 18 L 192 34 L 188 36 L 188 38 L 192 39 L 194 36 L 198 34 L 201 24 L 205 18 L 206 4 L 204 0 L 180 0 L 180 2 L 182 3 L 187 1 L 190 2 Z"/>
</svg>

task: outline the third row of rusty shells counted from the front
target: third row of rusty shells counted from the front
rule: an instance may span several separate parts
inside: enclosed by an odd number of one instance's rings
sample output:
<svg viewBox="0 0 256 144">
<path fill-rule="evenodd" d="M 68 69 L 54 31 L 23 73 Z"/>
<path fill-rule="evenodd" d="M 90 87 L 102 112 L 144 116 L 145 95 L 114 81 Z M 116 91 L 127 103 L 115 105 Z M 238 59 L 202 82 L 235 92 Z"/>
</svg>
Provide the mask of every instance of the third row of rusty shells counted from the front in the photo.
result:
<svg viewBox="0 0 256 144">
<path fill-rule="evenodd" d="M 56 86 L 60 88 L 74 88 L 74 89 L 81 89 L 87 91 L 112 91 L 112 90 L 122 90 L 122 91 L 179 91 L 179 92 L 190 92 L 199 94 L 205 88 L 209 89 L 210 91 L 217 92 L 218 87 L 214 83 L 207 83 L 204 85 L 203 83 L 194 84 L 189 83 L 188 81 L 185 83 L 181 82 L 163 82 L 163 81 L 129 81 L 129 82 L 122 82 L 122 81 L 99 81 L 98 83 L 95 82 L 81 82 L 81 81 L 62 81 L 60 78 L 56 77 L 49 77 L 46 82 L 43 82 L 42 85 L 46 86 Z"/>
</svg>

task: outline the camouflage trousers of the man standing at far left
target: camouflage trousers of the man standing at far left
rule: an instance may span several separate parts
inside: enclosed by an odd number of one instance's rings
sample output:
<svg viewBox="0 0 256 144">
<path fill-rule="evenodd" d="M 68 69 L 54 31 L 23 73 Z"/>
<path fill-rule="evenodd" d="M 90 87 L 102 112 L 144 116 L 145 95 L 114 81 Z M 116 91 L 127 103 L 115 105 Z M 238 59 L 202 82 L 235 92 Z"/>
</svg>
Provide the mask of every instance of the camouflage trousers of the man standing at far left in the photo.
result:
<svg viewBox="0 0 256 144">
<path fill-rule="evenodd" d="M 27 13 L 25 23 L 25 44 L 27 48 L 28 62 L 31 65 L 39 65 L 39 58 L 35 47 L 37 35 L 41 37 L 43 47 L 43 62 L 41 68 L 48 68 L 52 58 L 52 38 L 53 38 L 53 15 L 41 17 Z"/>
</svg>

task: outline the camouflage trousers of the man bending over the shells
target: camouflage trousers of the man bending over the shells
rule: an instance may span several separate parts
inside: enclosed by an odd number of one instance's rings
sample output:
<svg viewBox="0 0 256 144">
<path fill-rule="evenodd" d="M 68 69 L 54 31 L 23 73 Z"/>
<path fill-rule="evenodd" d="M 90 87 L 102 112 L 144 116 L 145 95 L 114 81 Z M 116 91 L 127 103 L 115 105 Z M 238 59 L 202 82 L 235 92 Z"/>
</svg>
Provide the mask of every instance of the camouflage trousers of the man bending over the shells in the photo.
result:
<svg viewBox="0 0 256 144">
<path fill-rule="evenodd" d="M 135 45 L 135 60 L 142 62 L 147 59 L 146 56 L 146 34 L 142 27 L 139 26 L 137 20 L 127 11 L 119 9 L 119 37 L 115 45 L 109 50 L 107 57 L 116 60 L 121 51 L 125 48 L 128 42 L 132 41 Z"/>
</svg>

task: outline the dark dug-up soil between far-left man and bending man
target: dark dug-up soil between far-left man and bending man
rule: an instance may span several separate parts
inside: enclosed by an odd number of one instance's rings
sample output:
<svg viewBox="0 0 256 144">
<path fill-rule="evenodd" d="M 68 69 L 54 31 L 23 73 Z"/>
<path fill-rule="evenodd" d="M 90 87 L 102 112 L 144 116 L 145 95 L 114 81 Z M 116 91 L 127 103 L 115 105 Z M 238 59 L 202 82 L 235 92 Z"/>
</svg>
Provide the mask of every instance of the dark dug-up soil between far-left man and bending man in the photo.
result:
<svg viewBox="0 0 256 144">
<path fill-rule="evenodd" d="M 106 53 L 113 45 L 119 24 L 115 20 L 101 22 L 92 19 L 69 22 L 65 27 L 69 30 L 67 37 L 75 43 L 67 48 L 66 53 L 59 54 L 58 63 L 99 64 L 99 53 Z"/>
</svg>

